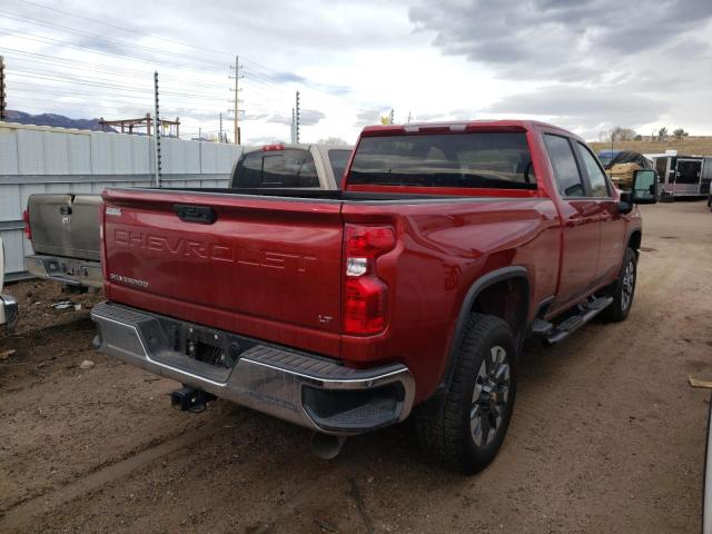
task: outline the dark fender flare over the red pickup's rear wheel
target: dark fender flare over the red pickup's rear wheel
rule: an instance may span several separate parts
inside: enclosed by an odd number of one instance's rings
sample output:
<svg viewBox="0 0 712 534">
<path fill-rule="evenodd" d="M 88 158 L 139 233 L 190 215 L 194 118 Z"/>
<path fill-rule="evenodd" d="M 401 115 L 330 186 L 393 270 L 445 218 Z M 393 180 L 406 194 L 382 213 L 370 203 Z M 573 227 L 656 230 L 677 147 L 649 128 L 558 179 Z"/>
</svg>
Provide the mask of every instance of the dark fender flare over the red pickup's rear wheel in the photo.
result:
<svg viewBox="0 0 712 534">
<path fill-rule="evenodd" d="M 453 373 L 455 370 L 455 363 L 457 360 L 457 347 L 459 347 L 459 343 L 465 334 L 465 324 L 467 322 L 467 317 L 472 310 L 472 307 L 479 296 L 479 294 L 485 290 L 487 287 L 493 286 L 500 281 L 518 279 L 523 280 L 525 284 L 525 300 L 523 306 L 523 315 L 522 318 L 523 324 L 521 330 L 515 335 L 515 340 L 517 343 L 517 348 L 520 349 L 524 337 L 526 335 L 527 329 L 527 316 L 530 309 L 530 275 L 525 267 L 523 266 L 508 266 L 503 267 L 501 269 L 495 269 L 486 275 L 478 277 L 473 285 L 469 287 L 467 293 L 465 294 L 465 298 L 463 299 L 463 304 L 459 309 L 459 315 L 457 316 L 457 324 L 455 325 L 455 330 L 451 338 L 449 349 L 447 350 L 447 363 L 445 365 L 445 370 L 443 372 L 443 376 L 441 377 L 441 382 L 437 386 L 437 389 L 432 395 L 432 397 L 424 403 L 424 407 L 427 406 L 427 411 L 435 409 L 439 412 L 443 406 L 443 400 L 445 399 L 445 395 L 449 389 L 449 384 L 453 378 Z M 429 408 L 429 409 L 428 409 Z"/>
</svg>

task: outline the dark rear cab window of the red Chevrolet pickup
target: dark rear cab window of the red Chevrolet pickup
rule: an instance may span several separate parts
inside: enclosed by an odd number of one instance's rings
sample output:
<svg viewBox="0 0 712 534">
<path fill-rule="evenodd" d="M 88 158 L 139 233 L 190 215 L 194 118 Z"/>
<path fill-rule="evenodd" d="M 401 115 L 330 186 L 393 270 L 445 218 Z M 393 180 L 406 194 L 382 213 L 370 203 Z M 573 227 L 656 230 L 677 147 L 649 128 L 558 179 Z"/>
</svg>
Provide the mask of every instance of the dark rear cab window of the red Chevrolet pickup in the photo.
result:
<svg viewBox="0 0 712 534">
<path fill-rule="evenodd" d="M 349 186 L 537 188 L 523 131 L 363 137 L 347 182 Z"/>
</svg>

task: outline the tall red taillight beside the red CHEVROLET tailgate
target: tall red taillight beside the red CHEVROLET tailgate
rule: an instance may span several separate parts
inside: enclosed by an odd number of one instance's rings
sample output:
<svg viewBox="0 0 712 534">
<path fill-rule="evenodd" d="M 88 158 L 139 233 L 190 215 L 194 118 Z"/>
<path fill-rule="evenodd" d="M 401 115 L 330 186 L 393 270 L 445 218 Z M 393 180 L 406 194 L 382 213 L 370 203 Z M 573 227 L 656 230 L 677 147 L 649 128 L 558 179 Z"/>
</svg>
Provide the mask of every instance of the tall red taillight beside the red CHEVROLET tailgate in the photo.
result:
<svg viewBox="0 0 712 534">
<path fill-rule="evenodd" d="M 388 286 L 378 278 L 376 258 L 396 246 L 390 226 L 345 225 L 344 333 L 373 335 L 386 327 Z"/>
</svg>

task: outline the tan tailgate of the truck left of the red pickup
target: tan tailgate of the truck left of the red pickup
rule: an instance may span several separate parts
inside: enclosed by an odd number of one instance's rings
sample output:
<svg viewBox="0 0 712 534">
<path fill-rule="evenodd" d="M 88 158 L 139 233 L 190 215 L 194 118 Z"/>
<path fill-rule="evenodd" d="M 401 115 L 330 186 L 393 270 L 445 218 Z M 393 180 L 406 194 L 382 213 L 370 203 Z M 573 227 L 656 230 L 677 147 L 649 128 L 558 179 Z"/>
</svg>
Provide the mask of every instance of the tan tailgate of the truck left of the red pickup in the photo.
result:
<svg viewBox="0 0 712 534">
<path fill-rule="evenodd" d="M 37 254 L 99 261 L 100 195 L 32 195 L 28 199 Z"/>
</svg>

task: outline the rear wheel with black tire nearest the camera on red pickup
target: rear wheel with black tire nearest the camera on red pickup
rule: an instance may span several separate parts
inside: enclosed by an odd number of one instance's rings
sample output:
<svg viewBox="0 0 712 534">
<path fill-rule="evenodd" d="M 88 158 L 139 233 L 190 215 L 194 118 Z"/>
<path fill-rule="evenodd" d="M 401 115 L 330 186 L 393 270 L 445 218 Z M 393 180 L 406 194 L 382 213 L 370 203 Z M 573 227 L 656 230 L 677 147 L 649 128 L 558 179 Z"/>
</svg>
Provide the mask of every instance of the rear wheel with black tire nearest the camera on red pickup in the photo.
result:
<svg viewBox="0 0 712 534">
<path fill-rule="evenodd" d="M 415 427 L 427 454 L 464 474 L 477 473 L 494 459 L 516 396 L 516 347 L 504 320 L 469 316 L 442 409 L 437 415 L 416 413 Z"/>
</svg>

